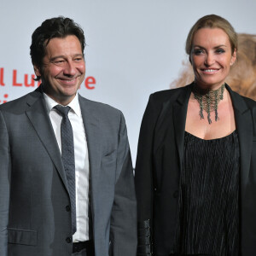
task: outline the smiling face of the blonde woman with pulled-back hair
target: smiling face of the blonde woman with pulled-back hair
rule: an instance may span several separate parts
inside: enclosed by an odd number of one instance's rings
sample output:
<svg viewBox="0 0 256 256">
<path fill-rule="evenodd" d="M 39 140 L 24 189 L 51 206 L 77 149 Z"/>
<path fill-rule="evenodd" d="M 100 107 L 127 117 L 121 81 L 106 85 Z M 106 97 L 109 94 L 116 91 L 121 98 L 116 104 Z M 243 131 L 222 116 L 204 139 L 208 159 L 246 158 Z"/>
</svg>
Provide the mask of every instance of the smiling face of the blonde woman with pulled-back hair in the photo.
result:
<svg viewBox="0 0 256 256">
<path fill-rule="evenodd" d="M 220 28 L 201 28 L 195 32 L 189 56 L 195 82 L 201 88 L 218 89 L 236 61 L 236 50 L 232 54 L 230 39 Z"/>
</svg>

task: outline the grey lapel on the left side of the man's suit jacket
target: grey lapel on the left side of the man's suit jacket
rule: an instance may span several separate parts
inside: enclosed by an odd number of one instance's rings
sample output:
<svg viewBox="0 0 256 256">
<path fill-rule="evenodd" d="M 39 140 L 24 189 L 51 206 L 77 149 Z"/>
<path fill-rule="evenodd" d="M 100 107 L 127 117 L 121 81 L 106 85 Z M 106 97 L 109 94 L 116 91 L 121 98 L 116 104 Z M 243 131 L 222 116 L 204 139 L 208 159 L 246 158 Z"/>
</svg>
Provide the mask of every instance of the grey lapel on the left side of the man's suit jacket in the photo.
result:
<svg viewBox="0 0 256 256">
<path fill-rule="evenodd" d="M 61 161 L 61 153 L 58 147 L 55 133 L 50 123 L 49 115 L 47 114 L 44 105 L 44 97 L 42 92 L 35 90 L 27 98 L 28 108 L 26 109 L 26 116 L 31 121 L 31 124 L 38 134 L 41 142 L 46 148 L 50 159 L 53 161 L 57 171 L 59 172 L 62 182 L 67 191 L 67 177 Z"/>
</svg>

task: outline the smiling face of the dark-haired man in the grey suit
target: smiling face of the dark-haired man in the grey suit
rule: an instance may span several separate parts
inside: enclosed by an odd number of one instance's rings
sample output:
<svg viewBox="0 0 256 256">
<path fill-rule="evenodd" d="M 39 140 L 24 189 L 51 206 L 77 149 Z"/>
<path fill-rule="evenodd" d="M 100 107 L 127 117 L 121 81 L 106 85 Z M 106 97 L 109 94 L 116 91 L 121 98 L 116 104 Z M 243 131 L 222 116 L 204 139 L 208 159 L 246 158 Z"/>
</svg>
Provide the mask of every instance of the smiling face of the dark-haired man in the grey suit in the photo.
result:
<svg viewBox="0 0 256 256">
<path fill-rule="evenodd" d="M 85 63 L 79 39 L 73 35 L 50 39 L 43 65 L 41 72 L 38 67 L 34 69 L 36 75 L 42 76 L 44 92 L 55 102 L 67 105 L 84 80 Z"/>
</svg>

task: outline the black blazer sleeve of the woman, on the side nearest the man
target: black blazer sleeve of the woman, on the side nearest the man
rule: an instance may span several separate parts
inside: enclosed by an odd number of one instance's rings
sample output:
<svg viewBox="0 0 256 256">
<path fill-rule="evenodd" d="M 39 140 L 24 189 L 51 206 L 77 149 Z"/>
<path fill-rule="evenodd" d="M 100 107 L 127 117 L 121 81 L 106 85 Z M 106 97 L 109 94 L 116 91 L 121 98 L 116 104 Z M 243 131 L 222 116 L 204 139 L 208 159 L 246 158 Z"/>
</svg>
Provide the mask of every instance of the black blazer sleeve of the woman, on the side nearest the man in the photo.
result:
<svg viewBox="0 0 256 256">
<path fill-rule="evenodd" d="M 149 97 L 148 105 L 143 115 L 137 148 L 137 163 L 135 171 L 138 218 L 137 255 L 146 256 L 153 254 L 153 148 L 154 127 L 157 123 L 159 112 L 160 104 L 156 104 L 153 94 Z"/>
</svg>

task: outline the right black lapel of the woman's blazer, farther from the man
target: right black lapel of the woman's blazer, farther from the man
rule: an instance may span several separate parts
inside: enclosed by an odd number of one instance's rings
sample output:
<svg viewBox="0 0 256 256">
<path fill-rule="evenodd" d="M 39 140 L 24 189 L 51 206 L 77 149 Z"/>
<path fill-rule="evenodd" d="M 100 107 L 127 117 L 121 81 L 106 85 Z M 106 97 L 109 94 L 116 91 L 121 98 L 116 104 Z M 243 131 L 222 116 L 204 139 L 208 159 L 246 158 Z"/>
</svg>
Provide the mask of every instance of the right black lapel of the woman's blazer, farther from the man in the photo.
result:
<svg viewBox="0 0 256 256">
<path fill-rule="evenodd" d="M 241 199 L 244 198 L 250 171 L 250 160 L 253 147 L 253 121 L 246 103 L 241 96 L 234 93 L 229 86 L 226 88 L 230 92 L 234 107 L 236 130 L 240 143 L 240 165 L 241 165 Z"/>
</svg>

